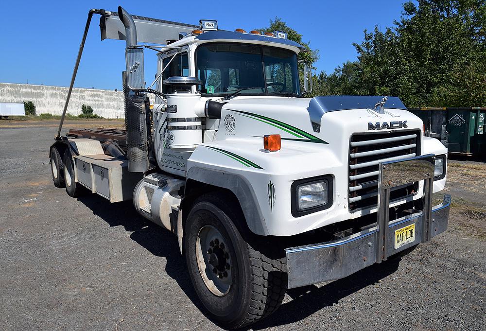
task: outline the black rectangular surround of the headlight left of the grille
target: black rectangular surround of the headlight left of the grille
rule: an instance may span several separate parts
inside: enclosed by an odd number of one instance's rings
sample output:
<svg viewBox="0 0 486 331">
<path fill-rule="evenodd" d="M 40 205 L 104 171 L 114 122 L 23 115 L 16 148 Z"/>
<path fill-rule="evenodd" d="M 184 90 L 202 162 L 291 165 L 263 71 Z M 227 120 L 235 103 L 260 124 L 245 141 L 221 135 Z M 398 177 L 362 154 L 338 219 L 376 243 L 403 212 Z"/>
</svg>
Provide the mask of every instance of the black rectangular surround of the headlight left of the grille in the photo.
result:
<svg viewBox="0 0 486 331">
<path fill-rule="evenodd" d="M 325 204 L 316 207 L 299 209 L 299 196 L 298 196 L 299 187 L 317 184 L 317 183 L 326 183 L 328 201 Z M 300 217 L 300 216 L 311 214 L 313 212 L 328 209 L 332 206 L 333 203 L 334 191 L 333 191 L 332 176 L 323 175 L 323 176 L 316 176 L 311 178 L 295 180 L 291 185 L 290 192 L 291 192 L 291 210 L 292 210 L 292 216 L 294 217 Z"/>
</svg>

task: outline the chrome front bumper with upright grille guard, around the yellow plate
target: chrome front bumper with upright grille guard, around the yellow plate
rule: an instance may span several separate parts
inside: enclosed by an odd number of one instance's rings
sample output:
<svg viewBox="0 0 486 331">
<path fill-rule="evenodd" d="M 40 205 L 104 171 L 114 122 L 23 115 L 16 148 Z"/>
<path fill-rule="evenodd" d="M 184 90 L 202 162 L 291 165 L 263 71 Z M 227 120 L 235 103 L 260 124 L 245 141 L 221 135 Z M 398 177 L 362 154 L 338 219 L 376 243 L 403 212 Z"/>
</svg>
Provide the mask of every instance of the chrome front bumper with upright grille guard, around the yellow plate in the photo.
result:
<svg viewBox="0 0 486 331">
<path fill-rule="evenodd" d="M 431 162 L 433 164 L 433 157 L 429 159 L 417 157 L 408 161 L 387 163 L 386 170 L 380 168 L 380 177 L 386 181 L 379 184 L 381 192 L 376 226 L 332 242 L 287 248 L 285 251 L 288 288 L 347 277 L 371 264 L 380 263 L 402 250 L 427 242 L 444 232 L 449 219 L 451 196 L 445 195 L 442 204 L 430 207 L 433 188 L 431 176 L 434 173 L 433 168 L 430 169 Z M 423 164 L 429 169 L 424 169 Z M 388 212 L 384 210 L 388 210 L 389 189 L 394 183 L 393 180 L 389 180 L 390 173 L 387 172 L 396 173 L 403 167 L 408 171 L 414 167 L 419 170 L 416 174 L 409 174 L 409 178 L 405 180 L 425 180 L 424 210 L 388 222 Z M 402 179 L 400 178 L 401 182 L 397 184 L 403 183 Z M 414 241 L 395 248 L 395 230 L 412 224 L 415 224 L 416 231 Z"/>
</svg>

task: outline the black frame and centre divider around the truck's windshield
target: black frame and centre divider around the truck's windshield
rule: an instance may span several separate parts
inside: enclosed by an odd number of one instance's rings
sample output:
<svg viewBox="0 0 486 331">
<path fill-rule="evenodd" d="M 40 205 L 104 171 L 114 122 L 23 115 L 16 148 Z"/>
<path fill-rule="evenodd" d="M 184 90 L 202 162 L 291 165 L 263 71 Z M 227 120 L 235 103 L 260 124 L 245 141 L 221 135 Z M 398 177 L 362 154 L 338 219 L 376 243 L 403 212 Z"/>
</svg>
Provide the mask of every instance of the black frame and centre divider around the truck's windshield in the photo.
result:
<svg viewBox="0 0 486 331">
<path fill-rule="evenodd" d="M 292 98 L 302 98 L 302 91 L 301 91 L 301 84 L 300 84 L 300 75 L 299 75 L 299 67 L 298 67 L 298 54 L 292 50 L 289 50 L 287 48 L 283 48 L 283 47 L 275 47 L 275 46 L 268 46 L 268 45 L 260 45 L 260 44 L 253 44 L 253 43 L 239 43 L 239 42 L 232 42 L 232 41 L 213 41 L 213 42 L 207 42 L 207 43 L 203 43 L 203 44 L 200 44 L 196 47 L 196 49 L 194 50 L 194 76 L 195 77 L 198 77 L 198 67 L 197 67 L 197 51 L 199 50 L 200 47 L 204 47 L 204 46 L 207 46 L 209 44 L 234 44 L 234 45 L 244 45 L 244 46 L 258 46 L 260 48 L 260 56 L 261 56 L 261 70 L 263 72 L 263 79 L 265 81 L 265 92 L 262 92 L 262 93 L 252 93 L 252 92 L 245 92 L 244 90 L 240 93 L 238 93 L 237 96 L 271 96 L 271 97 L 292 97 Z M 268 93 L 268 86 L 266 84 L 266 74 L 265 74 L 265 62 L 264 62 L 264 54 L 262 52 L 262 49 L 266 47 L 266 48 L 273 48 L 273 49 L 278 49 L 278 50 L 285 50 L 285 51 L 288 51 L 288 52 L 291 52 L 293 54 L 295 54 L 295 62 L 296 62 L 296 73 L 297 73 L 297 77 L 296 77 L 296 89 L 297 89 L 297 93 L 295 95 L 286 95 L 286 94 L 278 94 L 278 93 Z M 196 91 L 199 92 L 201 94 L 201 96 L 203 97 L 225 97 L 225 96 L 228 96 L 230 95 L 232 92 L 234 91 L 230 91 L 230 92 L 226 92 L 226 93 L 203 93 L 199 90 L 199 85 L 196 85 Z M 235 90 L 236 91 L 236 90 Z"/>
</svg>

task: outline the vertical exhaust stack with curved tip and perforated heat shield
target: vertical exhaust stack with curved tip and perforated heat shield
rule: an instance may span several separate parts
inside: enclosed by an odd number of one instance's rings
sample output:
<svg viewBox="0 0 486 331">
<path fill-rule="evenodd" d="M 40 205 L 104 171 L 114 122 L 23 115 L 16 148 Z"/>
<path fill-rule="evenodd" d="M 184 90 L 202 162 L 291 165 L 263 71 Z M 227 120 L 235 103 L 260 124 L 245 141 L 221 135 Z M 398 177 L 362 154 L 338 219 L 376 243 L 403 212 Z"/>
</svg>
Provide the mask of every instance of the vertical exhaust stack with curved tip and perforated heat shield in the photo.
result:
<svg viewBox="0 0 486 331">
<path fill-rule="evenodd" d="M 118 15 L 125 27 L 126 46 L 137 45 L 137 27 L 130 14 L 121 6 Z M 129 71 L 130 68 L 127 68 Z M 128 88 L 127 71 L 123 71 L 123 96 L 125 104 L 126 150 L 128 171 L 133 173 L 146 172 L 149 168 L 147 149 L 147 123 L 145 117 L 146 94 Z M 137 70 L 139 80 L 144 81 L 143 71 Z"/>
</svg>

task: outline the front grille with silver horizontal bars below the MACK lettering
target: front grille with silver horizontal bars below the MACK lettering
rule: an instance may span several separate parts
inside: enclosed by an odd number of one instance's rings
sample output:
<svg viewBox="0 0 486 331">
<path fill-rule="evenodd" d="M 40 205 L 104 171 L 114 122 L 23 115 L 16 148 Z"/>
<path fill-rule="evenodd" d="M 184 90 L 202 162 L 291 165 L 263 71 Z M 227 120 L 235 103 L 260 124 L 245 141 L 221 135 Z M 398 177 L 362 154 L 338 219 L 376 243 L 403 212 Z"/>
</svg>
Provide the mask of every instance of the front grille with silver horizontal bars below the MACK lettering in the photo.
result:
<svg viewBox="0 0 486 331">
<path fill-rule="evenodd" d="M 376 207 L 379 164 L 420 155 L 420 131 L 353 134 L 349 142 L 349 210 Z M 390 200 L 417 192 L 417 183 L 394 188 Z"/>
</svg>

